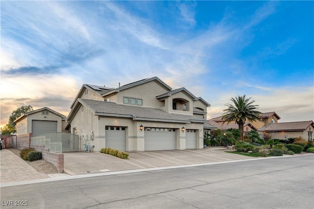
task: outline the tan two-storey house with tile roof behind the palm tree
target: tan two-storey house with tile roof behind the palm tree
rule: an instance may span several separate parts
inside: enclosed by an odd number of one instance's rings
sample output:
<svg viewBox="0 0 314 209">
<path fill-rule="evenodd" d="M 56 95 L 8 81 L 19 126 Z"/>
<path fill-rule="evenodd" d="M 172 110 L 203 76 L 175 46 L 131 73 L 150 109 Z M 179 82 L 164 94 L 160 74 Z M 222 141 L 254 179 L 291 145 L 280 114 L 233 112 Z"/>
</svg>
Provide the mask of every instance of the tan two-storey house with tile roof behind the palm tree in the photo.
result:
<svg viewBox="0 0 314 209">
<path fill-rule="evenodd" d="M 264 125 L 278 123 L 278 120 L 280 119 L 280 117 L 275 112 L 262 113 L 260 118 L 261 118 L 261 121 L 258 121 L 258 120 L 252 121 L 252 122 L 250 121 L 251 125 L 254 126 L 255 128 L 261 128 Z M 214 117 L 209 120 L 209 123 L 212 125 L 214 122 L 222 124 L 224 120 L 222 119 L 222 116 Z M 227 123 L 224 123 L 224 124 L 227 124 Z M 232 124 L 232 123 L 229 123 L 229 124 Z"/>
</svg>

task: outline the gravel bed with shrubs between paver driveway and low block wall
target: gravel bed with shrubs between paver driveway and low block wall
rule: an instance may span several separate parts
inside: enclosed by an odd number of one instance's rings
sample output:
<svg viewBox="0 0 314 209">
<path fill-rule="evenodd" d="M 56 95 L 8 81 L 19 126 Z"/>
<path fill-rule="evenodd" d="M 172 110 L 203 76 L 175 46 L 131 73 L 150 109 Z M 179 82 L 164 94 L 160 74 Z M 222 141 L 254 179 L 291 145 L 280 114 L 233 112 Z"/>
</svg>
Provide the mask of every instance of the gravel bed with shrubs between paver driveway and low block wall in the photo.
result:
<svg viewBox="0 0 314 209">
<path fill-rule="evenodd" d="M 14 154 L 20 157 L 21 150 L 13 149 L 13 148 L 8 149 L 8 150 L 10 150 L 11 152 L 13 152 Z M 32 162 L 26 161 L 26 162 L 40 173 L 45 173 L 45 174 L 58 173 L 56 167 L 52 163 L 49 163 L 47 161 L 38 160 L 38 161 L 32 161 Z"/>
</svg>

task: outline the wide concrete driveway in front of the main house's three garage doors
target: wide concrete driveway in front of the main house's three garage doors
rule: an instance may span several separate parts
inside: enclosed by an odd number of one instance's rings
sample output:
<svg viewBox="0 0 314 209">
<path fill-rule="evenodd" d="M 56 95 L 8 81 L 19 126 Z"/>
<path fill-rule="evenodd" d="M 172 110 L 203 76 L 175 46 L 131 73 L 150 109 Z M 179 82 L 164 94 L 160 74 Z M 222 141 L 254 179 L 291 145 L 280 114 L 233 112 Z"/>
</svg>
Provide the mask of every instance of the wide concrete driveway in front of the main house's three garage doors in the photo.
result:
<svg viewBox="0 0 314 209">
<path fill-rule="evenodd" d="M 65 152 L 64 171 L 70 175 L 79 175 L 251 159 L 251 157 L 230 154 L 224 151 L 226 149 L 205 148 L 129 152 L 129 159 L 120 159 L 99 152 Z"/>
</svg>

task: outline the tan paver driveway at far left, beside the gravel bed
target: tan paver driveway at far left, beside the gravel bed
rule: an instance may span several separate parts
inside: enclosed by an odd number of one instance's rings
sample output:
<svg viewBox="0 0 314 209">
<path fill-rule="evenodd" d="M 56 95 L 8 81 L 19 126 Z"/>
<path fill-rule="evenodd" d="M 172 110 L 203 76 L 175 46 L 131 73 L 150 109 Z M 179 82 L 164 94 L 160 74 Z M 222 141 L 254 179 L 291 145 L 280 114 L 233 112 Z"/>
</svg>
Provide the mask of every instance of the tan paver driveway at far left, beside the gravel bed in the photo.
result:
<svg viewBox="0 0 314 209">
<path fill-rule="evenodd" d="M 51 178 L 7 149 L 0 151 L 0 183 Z"/>
</svg>

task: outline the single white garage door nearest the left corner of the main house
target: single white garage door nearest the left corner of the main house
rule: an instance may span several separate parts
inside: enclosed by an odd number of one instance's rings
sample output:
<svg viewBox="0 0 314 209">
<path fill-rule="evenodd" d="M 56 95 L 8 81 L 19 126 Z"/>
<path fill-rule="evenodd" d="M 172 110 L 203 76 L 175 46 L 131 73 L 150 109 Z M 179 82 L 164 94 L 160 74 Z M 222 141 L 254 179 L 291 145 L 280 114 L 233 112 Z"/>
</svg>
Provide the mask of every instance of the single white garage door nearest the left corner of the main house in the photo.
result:
<svg viewBox="0 0 314 209">
<path fill-rule="evenodd" d="M 126 151 L 126 127 L 106 126 L 106 147 Z"/>
</svg>

